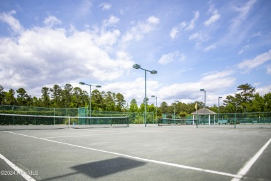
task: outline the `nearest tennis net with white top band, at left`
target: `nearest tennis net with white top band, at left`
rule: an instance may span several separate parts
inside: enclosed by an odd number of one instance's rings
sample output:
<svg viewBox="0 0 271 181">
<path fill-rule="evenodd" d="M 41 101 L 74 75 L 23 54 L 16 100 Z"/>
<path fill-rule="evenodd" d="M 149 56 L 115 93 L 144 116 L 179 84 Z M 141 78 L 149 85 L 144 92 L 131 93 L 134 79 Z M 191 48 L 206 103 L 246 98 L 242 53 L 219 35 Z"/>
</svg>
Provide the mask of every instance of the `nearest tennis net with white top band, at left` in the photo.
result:
<svg viewBox="0 0 271 181">
<path fill-rule="evenodd" d="M 129 127 L 129 117 L 40 116 L 0 113 L 0 130 Z"/>
</svg>

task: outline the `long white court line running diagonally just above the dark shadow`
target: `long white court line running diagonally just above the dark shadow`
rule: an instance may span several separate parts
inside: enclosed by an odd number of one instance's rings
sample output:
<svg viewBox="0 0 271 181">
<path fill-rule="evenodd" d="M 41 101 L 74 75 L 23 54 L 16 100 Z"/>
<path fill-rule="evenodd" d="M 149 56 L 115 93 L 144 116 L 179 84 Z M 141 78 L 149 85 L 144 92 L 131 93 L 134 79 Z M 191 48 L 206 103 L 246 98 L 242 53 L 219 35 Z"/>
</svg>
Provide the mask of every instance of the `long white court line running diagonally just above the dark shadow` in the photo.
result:
<svg viewBox="0 0 271 181">
<path fill-rule="evenodd" d="M 5 132 L 8 132 L 8 131 L 5 131 Z M 172 164 L 172 163 L 168 163 L 168 162 L 156 161 L 154 159 L 145 159 L 145 158 L 140 158 L 140 157 L 133 157 L 131 155 L 124 155 L 124 154 L 117 153 L 117 152 L 108 152 L 108 151 L 105 151 L 105 150 L 98 150 L 98 149 L 95 149 L 95 148 L 88 148 L 88 147 L 81 146 L 81 145 L 74 145 L 74 144 L 69 144 L 69 143 L 63 143 L 63 142 L 60 142 L 60 141 L 42 139 L 42 138 L 35 137 L 35 136 L 28 136 L 26 134 L 19 134 L 19 133 L 15 133 L 15 132 L 8 132 L 8 133 L 17 134 L 17 135 L 20 135 L 20 136 L 27 136 L 27 137 L 30 137 L 30 138 L 33 138 L 33 139 L 40 139 L 40 140 L 44 140 L 44 141 L 50 141 L 50 142 L 53 142 L 53 143 L 60 143 L 60 144 L 63 144 L 63 145 L 71 145 L 71 146 L 74 146 L 74 147 L 77 147 L 77 148 L 83 148 L 83 149 L 87 149 L 87 150 L 95 150 L 95 151 L 98 151 L 98 152 L 105 152 L 105 153 L 108 153 L 108 154 L 118 155 L 118 156 L 122 156 L 122 157 L 128 157 L 128 158 L 131 158 L 131 159 L 138 159 L 138 160 L 144 161 L 144 162 L 151 162 L 151 163 L 155 163 L 155 164 L 162 164 L 162 165 L 174 166 L 174 167 L 178 167 L 178 168 L 185 168 L 185 169 L 189 169 L 189 170 L 193 170 L 193 171 L 202 171 L 202 172 L 205 172 L 205 173 L 213 173 L 213 174 L 217 174 L 217 175 L 224 175 L 224 176 L 228 176 L 228 177 L 231 177 L 231 178 L 242 178 L 243 177 L 242 175 L 224 173 L 224 172 L 220 172 L 220 171 L 212 171 L 212 170 L 208 170 L 208 169 L 204 169 L 204 168 L 185 166 L 185 165 L 181 165 L 181 164 Z"/>
</svg>

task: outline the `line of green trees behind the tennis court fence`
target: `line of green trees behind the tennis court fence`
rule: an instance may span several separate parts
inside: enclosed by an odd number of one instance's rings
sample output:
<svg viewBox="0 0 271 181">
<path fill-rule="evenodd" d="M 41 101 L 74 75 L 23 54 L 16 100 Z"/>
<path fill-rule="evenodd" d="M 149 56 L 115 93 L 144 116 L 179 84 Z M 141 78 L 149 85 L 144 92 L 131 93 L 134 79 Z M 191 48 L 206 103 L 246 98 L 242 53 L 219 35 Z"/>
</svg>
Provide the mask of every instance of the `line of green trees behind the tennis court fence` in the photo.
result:
<svg viewBox="0 0 271 181">
<path fill-rule="evenodd" d="M 235 95 L 228 95 L 220 107 L 213 105 L 207 107 L 212 111 L 220 113 L 234 113 L 234 112 L 270 112 L 271 111 L 271 93 L 263 96 L 256 93 L 256 88 L 250 84 L 242 84 L 237 87 L 238 93 Z M 17 97 L 15 97 L 17 93 Z M 148 104 L 149 99 L 142 100 L 140 107 L 136 99 L 131 100 L 130 104 L 124 100 L 121 93 L 104 92 L 99 90 L 92 91 L 92 110 L 99 111 L 122 111 L 122 112 L 144 112 L 145 101 L 147 101 L 147 112 L 156 113 L 156 106 Z M 203 102 L 183 103 L 175 102 L 167 104 L 162 102 L 157 108 L 158 116 L 162 113 L 176 113 L 181 117 L 186 116 L 195 111 L 195 104 L 197 109 L 204 107 Z M 17 91 L 10 88 L 9 91 L 4 91 L 4 87 L 0 85 L 0 104 L 16 105 L 27 107 L 61 107 L 61 108 L 77 108 L 88 107 L 90 105 L 90 97 L 86 91 L 79 87 L 73 87 L 70 84 L 65 84 L 63 88 L 54 85 L 52 88 L 42 87 L 41 97 L 31 97 L 24 88 L 19 88 Z"/>
</svg>

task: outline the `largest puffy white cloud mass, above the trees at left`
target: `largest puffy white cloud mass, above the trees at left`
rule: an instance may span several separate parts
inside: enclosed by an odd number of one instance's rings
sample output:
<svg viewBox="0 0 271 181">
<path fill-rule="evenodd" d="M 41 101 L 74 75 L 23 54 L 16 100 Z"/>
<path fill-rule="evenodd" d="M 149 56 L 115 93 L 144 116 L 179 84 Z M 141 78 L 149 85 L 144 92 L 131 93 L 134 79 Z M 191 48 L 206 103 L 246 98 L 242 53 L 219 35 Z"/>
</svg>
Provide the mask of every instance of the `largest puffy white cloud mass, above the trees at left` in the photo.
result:
<svg viewBox="0 0 271 181">
<path fill-rule="evenodd" d="M 50 19 L 46 22 L 54 24 L 56 19 Z M 27 89 L 28 85 L 81 79 L 112 81 L 122 77 L 133 65 L 131 55 L 119 49 L 107 52 L 104 48 L 114 48 L 119 36 L 119 30 L 73 30 L 67 36 L 65 29 L 35 26 L 20 33 L 17 39 L 0 38 L 1 84 Z"/>
</svg>

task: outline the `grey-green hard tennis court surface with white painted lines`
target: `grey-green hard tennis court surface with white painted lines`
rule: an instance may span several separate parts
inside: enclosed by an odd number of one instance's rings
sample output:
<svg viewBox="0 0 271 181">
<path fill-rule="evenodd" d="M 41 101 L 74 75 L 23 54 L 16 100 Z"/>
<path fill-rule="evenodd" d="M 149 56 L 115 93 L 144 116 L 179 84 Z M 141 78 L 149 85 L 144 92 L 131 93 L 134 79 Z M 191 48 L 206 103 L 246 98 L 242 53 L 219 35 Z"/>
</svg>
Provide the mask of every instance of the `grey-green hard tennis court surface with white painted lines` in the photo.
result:
<svg viewBox="0 0 271 181">
<path fill-rule="evenodd" d="M 0 180 L 271 180 L 271 129 L 0 131 Z"/>
</svg>

